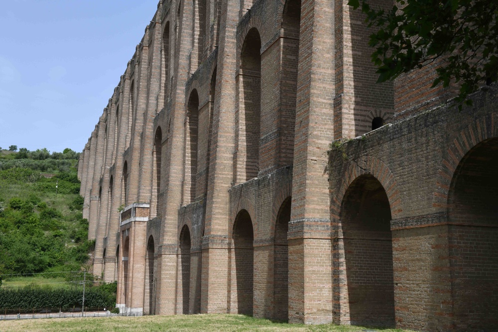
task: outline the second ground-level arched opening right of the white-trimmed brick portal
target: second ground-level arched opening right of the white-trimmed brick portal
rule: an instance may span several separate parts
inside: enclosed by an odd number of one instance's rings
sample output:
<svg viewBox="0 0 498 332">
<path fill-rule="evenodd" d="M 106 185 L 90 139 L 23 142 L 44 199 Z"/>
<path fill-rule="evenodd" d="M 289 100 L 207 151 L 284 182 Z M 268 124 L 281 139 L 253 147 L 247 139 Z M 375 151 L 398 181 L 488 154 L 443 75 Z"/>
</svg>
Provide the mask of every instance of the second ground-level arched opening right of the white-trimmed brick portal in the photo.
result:
<svg viewBox="0 0 498 332">
<path fill-rule="evenodd" d="M 190 306 L 190 230 L 184 225 L 180 233 L 180 274 L 178 289 L 181 294 L 178 296 L 179 312 L 184 315 L 189 314 Z"/>
</svg>

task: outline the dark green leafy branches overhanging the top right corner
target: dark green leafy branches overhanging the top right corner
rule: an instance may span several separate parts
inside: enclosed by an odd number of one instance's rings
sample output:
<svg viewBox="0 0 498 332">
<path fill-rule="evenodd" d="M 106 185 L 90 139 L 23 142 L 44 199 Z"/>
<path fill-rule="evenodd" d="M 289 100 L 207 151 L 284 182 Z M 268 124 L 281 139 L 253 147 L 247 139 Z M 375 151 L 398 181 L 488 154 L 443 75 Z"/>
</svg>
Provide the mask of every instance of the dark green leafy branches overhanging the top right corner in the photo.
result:
<svg viewBox="0 0 498 332">
<path fill-rule="evenodd" d="M 455 82 L 457 102 L 471 105 L 469 94 L 497 81 L 498 1 L 394 0 L 389 10 L 371 0 L 349 4 L 361 6 L 375 27 L 369 44 L 378 82 L 442 60 L 433 87 Z"/>
</svg>

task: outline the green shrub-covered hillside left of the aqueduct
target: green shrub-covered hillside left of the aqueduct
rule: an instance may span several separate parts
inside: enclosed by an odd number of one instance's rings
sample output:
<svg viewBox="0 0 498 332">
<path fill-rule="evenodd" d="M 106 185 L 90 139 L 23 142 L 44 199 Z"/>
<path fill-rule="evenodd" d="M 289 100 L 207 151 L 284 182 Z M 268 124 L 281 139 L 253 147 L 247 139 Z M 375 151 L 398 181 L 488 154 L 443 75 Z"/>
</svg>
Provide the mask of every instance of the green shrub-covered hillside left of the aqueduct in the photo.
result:
<svg viewBox="0 0 498 332">
<path fill-rule="evenodd" d="M 71 149 L 0 153 L 0 275 L 79 271 L 93 242 Z M 57 187 L 57 188 L 56 188 Z M 50 274 L 71 278 L 71 274 Z"/>
</svg>

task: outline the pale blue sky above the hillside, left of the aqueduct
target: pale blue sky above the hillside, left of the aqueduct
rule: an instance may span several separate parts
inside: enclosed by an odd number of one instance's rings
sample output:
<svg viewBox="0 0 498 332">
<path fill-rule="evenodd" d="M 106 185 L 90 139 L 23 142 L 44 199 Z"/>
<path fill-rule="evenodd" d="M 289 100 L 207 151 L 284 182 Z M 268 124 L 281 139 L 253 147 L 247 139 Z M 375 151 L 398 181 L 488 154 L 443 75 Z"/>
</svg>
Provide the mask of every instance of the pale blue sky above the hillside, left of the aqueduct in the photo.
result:
<svg viewBox="0 0 498 332">
<path fill-rule="evenodd" d="M 8 0 L 0 147 L 81 152 L 159 0 Z"/>
</svg>

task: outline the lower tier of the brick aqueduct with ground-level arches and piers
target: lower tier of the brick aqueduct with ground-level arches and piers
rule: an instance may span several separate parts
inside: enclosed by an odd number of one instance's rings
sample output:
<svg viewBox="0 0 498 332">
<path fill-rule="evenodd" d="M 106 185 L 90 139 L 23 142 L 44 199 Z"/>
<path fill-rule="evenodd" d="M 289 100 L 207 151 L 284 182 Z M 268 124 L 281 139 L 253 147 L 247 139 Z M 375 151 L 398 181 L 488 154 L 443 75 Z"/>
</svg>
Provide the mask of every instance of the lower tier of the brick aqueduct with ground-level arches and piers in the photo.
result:
<svg viewBox="0 0 498 332">
<path fill-rule="evenodd" d="M 483 92 L 473 108 L 441 107 L 332 144 L 330 221 L 291 220 L 287 167 L 232 187 L 228 236 L 205 235 L 205 199 L 178 210 L 176 247 L 157 246 L 157 218 L 122 223 L 123 255 L 132 243 L 147 252 L 135 255 L 144 268 L 133 264 L 134 285 L 124 261 L 118 301 L 145 314 L 494 330 L 497 102 Z"/>
</svg>

